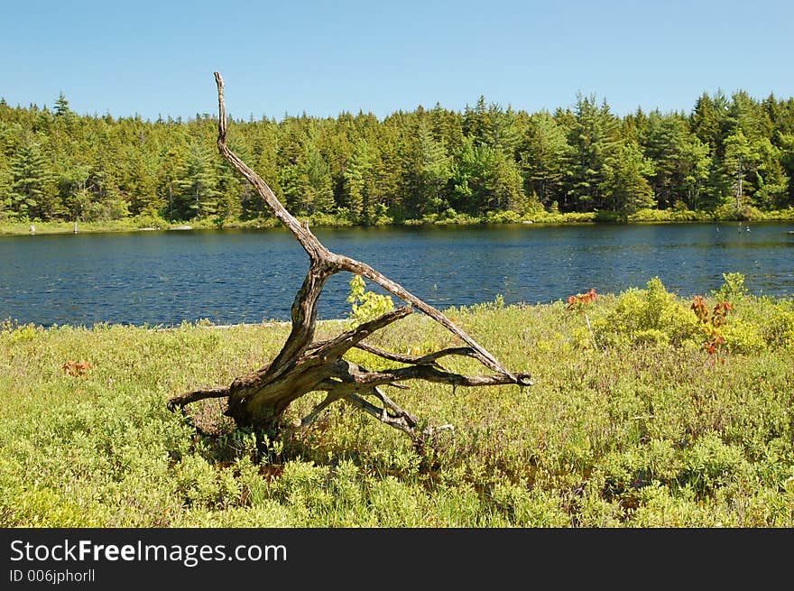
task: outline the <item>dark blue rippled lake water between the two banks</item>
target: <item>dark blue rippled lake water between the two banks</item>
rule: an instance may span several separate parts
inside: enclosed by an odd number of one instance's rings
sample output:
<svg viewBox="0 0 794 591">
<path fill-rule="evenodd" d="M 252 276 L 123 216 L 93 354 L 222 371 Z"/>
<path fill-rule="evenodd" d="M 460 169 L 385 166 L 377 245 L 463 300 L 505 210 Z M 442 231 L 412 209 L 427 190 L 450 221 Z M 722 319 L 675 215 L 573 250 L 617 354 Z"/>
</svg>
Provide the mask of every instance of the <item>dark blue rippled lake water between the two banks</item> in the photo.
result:
<svg viewBox="0 0 794 591">
<path fill-rule="evenodd" d="M 794 224 L 317 228 L 433 306 L 549 302 L 659 276 L 689 297 L 742 272 L 756 294 L 794 296 Z M 285 230 L 0 236 L 0 319 L 42 326 L 289 319 L 309 257 Z M 319 318 L 347 315 L 350 275 Z M 380 290 L 375 290 L 380 291 Z M 383 291 L 381 291 L 383 292 Z M 397 303 L 395 301 L 395 303 Z"/>
</svg>

